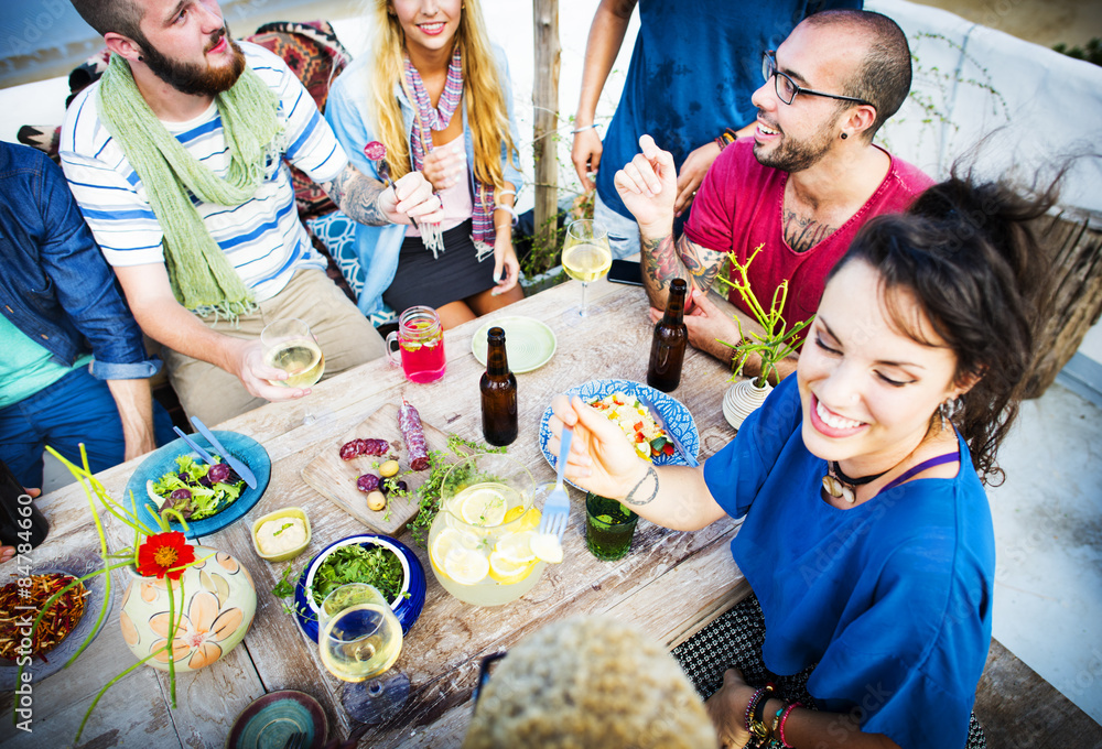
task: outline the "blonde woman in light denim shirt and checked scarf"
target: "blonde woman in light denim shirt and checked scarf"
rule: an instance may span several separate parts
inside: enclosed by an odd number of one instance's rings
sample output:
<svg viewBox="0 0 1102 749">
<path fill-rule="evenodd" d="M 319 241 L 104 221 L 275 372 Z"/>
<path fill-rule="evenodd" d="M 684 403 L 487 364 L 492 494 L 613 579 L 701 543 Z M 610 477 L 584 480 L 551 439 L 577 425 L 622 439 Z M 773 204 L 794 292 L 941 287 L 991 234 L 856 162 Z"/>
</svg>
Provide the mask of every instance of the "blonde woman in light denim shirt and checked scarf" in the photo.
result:
<svg viewBox="0 0 1102 749">
<path fill-rule="evenodd" d="M 371 315 L 423 304 L 445 328 L 523 296 L 512 249 L 521 186 L 505 54 L 478 0 L 375 0 L 375 44 L 338 78 L 325 117 L 352 162 L 380 181 L 364 148 L 386 146 L 393 180 L 420 171 L 444 206 L 439 226 L 355 226 Z"/>
</svg>

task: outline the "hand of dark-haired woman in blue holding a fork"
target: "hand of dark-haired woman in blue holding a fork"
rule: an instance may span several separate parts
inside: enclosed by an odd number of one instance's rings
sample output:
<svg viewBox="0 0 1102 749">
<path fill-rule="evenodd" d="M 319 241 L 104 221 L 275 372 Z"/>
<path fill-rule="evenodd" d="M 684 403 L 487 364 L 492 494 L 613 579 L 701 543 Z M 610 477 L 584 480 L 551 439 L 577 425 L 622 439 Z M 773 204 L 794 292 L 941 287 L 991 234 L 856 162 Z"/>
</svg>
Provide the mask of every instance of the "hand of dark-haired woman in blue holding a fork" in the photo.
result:
<svg viewBox="0 0 1102 749">
<path fill-rule="evenodd" d="M 548 449 L 559 454 L 563 424 L 574 427 L 565 476 L 585 489 L 613 499 L 623 499 L 639 484 L 650 467 L 624 438 L 619 426 L 603 413 L 574 397 L 555 395 L 551 401 L 553 435 Z"/>
</svg>

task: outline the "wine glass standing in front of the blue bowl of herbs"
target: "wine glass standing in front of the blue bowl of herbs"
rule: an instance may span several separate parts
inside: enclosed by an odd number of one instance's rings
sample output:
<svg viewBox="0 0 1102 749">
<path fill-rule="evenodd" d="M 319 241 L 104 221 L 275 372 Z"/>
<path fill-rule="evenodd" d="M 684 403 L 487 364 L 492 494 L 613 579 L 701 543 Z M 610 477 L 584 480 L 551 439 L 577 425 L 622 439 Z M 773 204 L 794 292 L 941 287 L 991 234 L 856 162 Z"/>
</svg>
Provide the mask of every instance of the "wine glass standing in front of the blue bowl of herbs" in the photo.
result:
<svg viewBox="0 0 1102 749">
<path fill-rule="evenodd" d="M 348 682 L 341 701 L 353 718 L 381 723 L 406 703 L 409 679 L 387 674 L 402 652 L 402 626 L 375 586 L 349 583 L 325 597 L 317 647 L 326 670 Z"/>
</svg>

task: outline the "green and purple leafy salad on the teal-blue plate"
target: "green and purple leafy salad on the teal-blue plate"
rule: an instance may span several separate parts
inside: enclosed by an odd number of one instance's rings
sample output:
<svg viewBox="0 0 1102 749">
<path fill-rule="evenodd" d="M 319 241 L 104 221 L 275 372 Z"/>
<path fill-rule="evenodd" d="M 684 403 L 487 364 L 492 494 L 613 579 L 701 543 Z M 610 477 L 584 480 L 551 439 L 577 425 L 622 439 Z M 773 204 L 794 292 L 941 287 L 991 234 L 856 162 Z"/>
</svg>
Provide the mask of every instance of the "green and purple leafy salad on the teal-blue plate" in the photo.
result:
<svg viewBox="0 0 1102 749">
<path fill-rule="evenodd" d="M 172 508 L 185 520 L 203 520 L 233 504 L 245 490 L 245 480 L 220 456 L 212 457 L 217 463 L 208 466 L 181 455 L 176 458 L 177 471 L 148 481 L 145 488 L 158 509 Z"/>
</svg>

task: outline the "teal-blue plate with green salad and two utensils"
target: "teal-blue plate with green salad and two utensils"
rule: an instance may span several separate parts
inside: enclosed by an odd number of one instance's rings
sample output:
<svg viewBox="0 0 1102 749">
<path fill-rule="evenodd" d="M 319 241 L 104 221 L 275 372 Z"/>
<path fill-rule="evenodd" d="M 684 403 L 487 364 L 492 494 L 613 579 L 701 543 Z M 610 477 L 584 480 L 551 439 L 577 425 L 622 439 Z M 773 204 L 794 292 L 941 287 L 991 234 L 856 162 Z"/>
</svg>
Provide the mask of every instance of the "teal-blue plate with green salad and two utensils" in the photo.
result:
<svg viewBox="0 0 1102 749">
<path fill-rule="evenodd" d="M 133 492 L 141 522 L 156 529 L 153 513 L 172 507 L 187 521 L 184 531 L 179 521 L 171 520 L 172 530 L 184 532 L 188 539 L 198 539 L 226 528 L 260 501 L 272 473 L 268 452 L 252 437 L 237 432 L 218 430 L 214 434 L 235 458 L 256 474 L 257 488 L 250 489 L 213 446 L 206 447 L 198 434 L 188 436 L 219 459 L 213 466 L 199 459 L 183 439 L 173 439 L 142 460 L 127 482 L 123 503 L 129 504 Z"/>
</svg>

